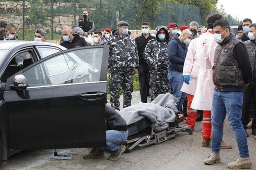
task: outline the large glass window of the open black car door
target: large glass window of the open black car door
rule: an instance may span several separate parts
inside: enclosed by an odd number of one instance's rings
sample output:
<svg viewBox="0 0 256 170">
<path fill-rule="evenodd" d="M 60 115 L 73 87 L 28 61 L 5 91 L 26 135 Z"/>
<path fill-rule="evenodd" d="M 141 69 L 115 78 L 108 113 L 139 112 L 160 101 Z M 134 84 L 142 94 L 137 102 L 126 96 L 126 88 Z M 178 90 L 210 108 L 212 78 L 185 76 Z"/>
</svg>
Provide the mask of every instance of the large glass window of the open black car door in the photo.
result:
<svg viewBox="0 0 256 170">
<path fill-rule="evenodd" d="M 103 48 L 86 48 L 57 55 L 24 71 L 29 87 L 100 80 Z"/>
</svg>

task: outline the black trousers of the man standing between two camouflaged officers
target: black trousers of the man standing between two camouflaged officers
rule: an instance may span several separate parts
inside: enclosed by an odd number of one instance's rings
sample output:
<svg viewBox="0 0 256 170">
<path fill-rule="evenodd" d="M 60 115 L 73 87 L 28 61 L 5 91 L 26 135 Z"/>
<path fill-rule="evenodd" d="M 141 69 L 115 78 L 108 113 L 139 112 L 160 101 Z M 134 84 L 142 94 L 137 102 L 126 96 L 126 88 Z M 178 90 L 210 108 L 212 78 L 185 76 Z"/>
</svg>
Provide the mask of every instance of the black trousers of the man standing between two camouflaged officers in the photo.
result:
<svg viewBox="0 0 256 170">
<path fill-rule="evenodd" d="M 141 94 L 142 103 L 147 103 L 147 76 L 149 73 L 149 66 L 138 66 L 139 79 L 139 93 Z"/>
</svg>

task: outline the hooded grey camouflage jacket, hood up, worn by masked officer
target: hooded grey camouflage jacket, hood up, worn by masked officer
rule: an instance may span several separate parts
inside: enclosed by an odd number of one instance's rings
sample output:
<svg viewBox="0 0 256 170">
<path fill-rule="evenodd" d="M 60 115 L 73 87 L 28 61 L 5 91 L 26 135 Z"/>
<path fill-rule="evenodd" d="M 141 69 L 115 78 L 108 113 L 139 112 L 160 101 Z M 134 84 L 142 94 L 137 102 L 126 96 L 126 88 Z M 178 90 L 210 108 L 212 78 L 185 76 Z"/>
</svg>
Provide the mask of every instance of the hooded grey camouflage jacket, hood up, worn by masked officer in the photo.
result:
<svg viewBox="0 0 256 170">
<path fill-rule="evenodd" d="M 169 35 L 167 29 L 164 26 L 156 28 L 156 39 L 150 40 L 143 53 L 145 62 L 150 66 L 151 72 L 168 71 L 169 60 L 167 54 L 167 45 L 169 36 L 166 36 L 164 41 L 158 39 L 158 33 L 160 29 L 165 29 L 166 35 Z"/>
</svg>

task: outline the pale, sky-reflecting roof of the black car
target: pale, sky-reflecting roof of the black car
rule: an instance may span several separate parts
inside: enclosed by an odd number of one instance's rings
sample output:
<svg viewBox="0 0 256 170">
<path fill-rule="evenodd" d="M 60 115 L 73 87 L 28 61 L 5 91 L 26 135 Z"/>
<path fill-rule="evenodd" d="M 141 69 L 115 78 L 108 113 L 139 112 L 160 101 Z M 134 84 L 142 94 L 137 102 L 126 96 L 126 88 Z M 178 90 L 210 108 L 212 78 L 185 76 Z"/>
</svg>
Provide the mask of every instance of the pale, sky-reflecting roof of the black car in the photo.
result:
<svg viewBox="0 0 256 170">
<path fill-rule="evenodd" d="M 61 48 L 61 50 L 66 50 L 65 47 L 49 42 L 35 42 L 35 41 L 0 41 L 0 50 L 9 50 L 12 47 L 17 46 L 34 46 L 34 45 L 48 45 Z"/>
</svg>

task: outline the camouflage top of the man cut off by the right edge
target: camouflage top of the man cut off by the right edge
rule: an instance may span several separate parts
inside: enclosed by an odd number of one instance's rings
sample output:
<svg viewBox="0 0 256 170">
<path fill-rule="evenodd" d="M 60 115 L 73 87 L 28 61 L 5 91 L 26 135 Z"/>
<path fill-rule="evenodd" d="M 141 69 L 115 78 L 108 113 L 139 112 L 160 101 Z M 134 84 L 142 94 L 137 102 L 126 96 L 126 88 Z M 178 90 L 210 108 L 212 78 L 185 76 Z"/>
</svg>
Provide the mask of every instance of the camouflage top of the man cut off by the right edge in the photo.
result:
<svg viewBox="0 0 256 170">
<path fill-rule="evenodd" d="M 255 41 L 246 41 L 245 42 L 246 47 L 247 47 L 247 51 L 249 54 L 249 58 L 250 58 L 250 63 L 251 63 L 251 67 L 252 67 L 252 79 L 255 80 L 256 79 L 256 42 Z"/>
</svg>

